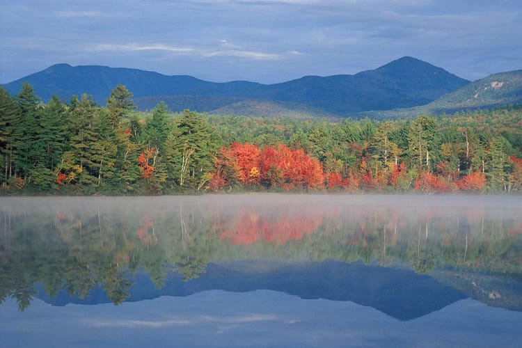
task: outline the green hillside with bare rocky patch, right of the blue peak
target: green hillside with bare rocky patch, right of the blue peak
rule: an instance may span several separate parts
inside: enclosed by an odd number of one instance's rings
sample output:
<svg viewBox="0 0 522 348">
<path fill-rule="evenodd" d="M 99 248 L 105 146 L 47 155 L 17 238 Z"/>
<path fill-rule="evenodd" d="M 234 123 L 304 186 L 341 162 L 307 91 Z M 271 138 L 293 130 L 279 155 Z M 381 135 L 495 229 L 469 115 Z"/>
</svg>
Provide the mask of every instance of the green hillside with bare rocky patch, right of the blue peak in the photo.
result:
<svg viewBox="0 0 522 348">
<path fill-rule="evenodd" d="M 455 113 L 463 110 L 489 109 L 522 103 L 522 70 L 491 74 L 452 93 L 409 109 L 368 111 L 360 116 L 377 118 L 415 117 L 421 114 Z"/>
</svg>

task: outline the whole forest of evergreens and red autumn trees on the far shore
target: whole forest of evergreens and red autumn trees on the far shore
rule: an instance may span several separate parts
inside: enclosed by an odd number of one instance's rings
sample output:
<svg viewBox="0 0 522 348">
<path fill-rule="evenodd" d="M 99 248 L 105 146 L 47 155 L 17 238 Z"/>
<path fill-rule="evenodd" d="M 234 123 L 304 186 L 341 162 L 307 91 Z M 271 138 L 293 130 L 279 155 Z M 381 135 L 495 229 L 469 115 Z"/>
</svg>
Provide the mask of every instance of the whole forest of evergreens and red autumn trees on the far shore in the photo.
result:
<svg viewBox="0 0 522 348">
<path fill-rule="evenodd" d="M 405 120 L 308 120 L 136 111 L 118 85 L 42 102 L 0 88 L 0 194 L 207 191 L 517 193 L 522 109 Z"/>
</svg>

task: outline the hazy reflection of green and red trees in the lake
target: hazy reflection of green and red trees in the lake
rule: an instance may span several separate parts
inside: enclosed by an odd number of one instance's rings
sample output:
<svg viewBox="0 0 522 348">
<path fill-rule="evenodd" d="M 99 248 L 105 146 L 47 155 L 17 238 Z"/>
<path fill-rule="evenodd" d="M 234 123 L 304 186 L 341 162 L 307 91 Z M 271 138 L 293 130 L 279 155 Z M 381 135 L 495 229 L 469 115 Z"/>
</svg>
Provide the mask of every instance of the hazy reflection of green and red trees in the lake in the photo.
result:
<svg viewBox="0 0 522 348">
<path fill-rule="evenodd" d="M 66 290 L 85 298 L 100 287 L 120 304 L 142 270 L 161 288 L 169 271 L 190 280 L 211 260 L 333 259 L 406 263 L 419 274 L 448 267 L 522 274 L 522 217 L 516 209 L 500 214 L 473 207 L 185 199 L 156 209 L 138 200 L 125 209 L 111 200 L 47 207 L 0 203 L 0 301 L 13 297 L 24 310 L 40 283 L 49 296 Z"/>
</svg>

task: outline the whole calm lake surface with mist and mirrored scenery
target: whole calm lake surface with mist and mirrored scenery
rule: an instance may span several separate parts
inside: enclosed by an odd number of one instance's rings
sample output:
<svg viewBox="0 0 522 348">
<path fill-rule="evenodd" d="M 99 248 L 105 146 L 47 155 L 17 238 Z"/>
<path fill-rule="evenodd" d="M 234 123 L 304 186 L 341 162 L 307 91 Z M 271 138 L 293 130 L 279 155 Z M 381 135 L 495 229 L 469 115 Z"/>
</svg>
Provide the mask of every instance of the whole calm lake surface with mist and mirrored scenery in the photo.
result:
<svg viewBox="0 0 522 348">
<path fill-rule="evenodd" d="M 519 347 L 522 197 L 0 198 L 3 347 Z"/>
</svg>

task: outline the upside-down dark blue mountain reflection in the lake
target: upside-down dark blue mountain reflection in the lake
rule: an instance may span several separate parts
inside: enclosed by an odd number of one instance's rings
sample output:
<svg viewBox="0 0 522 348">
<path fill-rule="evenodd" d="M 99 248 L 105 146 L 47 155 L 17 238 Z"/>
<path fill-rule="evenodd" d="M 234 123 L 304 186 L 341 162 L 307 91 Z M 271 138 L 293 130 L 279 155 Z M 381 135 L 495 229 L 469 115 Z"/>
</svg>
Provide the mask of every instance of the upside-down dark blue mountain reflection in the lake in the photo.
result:
<svg viewBox="0 0 522 348">
<path fill-rule="evenodd" d="M 262 262 L 255 261 L 209 263 L 205 273 L 189 281 L 183 281 L 179 274 L 169 274 L 161 289 L 155 287 L 147 275 L 138 274 L 136 283 L 130 289 L 131 296 L 126 301 L 189 296 L 205 290 L 250 292 L 263 289 L 285 292 L 301 299 L 352 301 L 371 306 L 399 320 L 411 320 L 466 298 L 459 290 L 409 269 L 331 260 L 271 266 L 264 269 Z M 38 297 L 53 306 L 110 302 L 102 287 L 95 288 L 84 299 L 71 296 L 65 290 L 51 297 L 40 287 Z"/>
</svg>

